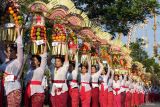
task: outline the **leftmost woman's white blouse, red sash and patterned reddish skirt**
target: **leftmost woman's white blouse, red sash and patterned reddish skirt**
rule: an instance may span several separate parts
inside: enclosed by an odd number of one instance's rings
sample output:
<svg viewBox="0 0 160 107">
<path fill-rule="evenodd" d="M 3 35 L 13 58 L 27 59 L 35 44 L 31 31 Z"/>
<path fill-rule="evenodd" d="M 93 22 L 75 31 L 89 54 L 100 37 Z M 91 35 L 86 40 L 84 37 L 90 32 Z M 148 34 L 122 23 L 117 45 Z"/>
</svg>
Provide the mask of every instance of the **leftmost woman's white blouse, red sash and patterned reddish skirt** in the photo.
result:
<svg viewBox="0 0 160 107">
<path fill-rule="evenodd" d="M 21 104 L 21 84 L 18 80 L 21 67 L 23 64 L 23 44 L 22 36 L 19 35 L 17 40 L 17 58 L 7 61 L 0 66 L 0 71 L 3 72 L 5 77 L 2 79 L 1 88 L 4 89 L 6 96 L 6 105 L 8 107 L 20 107 Z M 4 100 L 3 100 L 4 101 Z"/>
</svg>

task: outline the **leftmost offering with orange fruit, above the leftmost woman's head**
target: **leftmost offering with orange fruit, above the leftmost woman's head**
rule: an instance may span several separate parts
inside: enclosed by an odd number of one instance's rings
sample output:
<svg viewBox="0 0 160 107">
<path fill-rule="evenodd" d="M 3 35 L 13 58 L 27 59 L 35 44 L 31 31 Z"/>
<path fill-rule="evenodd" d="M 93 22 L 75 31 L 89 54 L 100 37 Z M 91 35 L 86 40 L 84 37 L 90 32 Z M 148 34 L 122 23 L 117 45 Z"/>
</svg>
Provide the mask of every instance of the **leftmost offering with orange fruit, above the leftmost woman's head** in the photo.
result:
<svg viewBox="0 0 160 107">
<path fill-rule="evenodd" d="M 23 16 L 20 13 L 20 6 L 17 0 L 6 1 L 5 9 L 1 9 L 0 20 L 0 41 L 5 41 L 7 43 L 15 42 L 17 38 L 15 26 L 23 23 Z"/>
</svg>

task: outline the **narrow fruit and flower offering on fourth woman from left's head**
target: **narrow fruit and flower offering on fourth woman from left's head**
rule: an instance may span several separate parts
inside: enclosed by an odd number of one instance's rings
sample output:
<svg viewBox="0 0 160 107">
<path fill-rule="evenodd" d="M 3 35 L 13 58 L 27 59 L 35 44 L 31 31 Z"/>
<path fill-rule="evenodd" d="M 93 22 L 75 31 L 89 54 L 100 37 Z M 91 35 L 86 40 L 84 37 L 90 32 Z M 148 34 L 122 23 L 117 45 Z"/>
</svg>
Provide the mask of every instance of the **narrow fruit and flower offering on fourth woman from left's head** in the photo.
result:
<svg viewBox="0 0 160 107">
<path fill-rule="evenodd" d="M 71 29 L 67 29 L 67 34 L 68 34 L 69 59 L 71 61 L 74 61 L 75 55 L 73 55 L 73 52 L 77 51 L 78 49 L 78 37 Z"/>
</svg>

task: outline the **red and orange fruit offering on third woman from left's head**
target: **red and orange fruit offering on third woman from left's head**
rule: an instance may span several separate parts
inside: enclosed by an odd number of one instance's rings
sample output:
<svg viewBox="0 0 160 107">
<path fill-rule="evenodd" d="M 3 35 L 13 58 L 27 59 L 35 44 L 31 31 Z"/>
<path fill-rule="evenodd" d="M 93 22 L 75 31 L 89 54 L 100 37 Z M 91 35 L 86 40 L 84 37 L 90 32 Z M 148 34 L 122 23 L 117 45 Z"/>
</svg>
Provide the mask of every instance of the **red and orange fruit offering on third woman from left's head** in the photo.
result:
<svg viewBox="0 0 160 107">
<path fill-rule="evenodd" d="M 66 28 L 63 24 L 57 23 L 53 25 L 52 55 L 65 55 L 68 49 L 66 36 Z"/>
</svg>

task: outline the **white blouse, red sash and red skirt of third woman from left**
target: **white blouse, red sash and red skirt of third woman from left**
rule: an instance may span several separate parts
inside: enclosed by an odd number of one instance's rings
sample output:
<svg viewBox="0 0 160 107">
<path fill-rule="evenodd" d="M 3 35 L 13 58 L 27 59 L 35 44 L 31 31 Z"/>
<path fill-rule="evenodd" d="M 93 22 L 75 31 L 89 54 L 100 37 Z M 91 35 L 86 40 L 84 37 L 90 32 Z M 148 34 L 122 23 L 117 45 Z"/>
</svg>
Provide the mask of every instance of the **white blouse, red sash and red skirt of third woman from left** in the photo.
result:
<svg viewBox="0 0 160 107">
<path fill-rule="evenodd" d="M 69 68 L 69 62 L 64 62 L 59 69 L 55 68 L 51 71 L 51 107 L 67 107 L 68 87 L 66 83 L 66 73 Z"/>
</svg>

